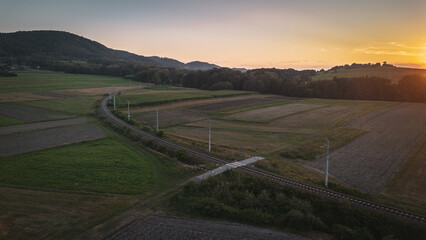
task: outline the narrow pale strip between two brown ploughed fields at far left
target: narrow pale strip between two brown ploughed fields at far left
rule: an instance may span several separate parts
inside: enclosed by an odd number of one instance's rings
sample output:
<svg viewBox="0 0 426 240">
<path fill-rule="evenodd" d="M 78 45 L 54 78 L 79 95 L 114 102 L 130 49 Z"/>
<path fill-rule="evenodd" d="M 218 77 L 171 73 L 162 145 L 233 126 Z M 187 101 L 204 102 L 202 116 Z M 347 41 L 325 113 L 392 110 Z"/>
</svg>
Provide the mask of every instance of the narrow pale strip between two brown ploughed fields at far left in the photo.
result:
<svg viewBox="0 0 426 240">
<path fill-rule="evenodd" d="M 81 117 L 81 118 L 72 118 L 72 119 L 65 119 L 65 120 L 58 120 L 58 121 L 39 122 L 39 123 L 21 124 L 21 125 L 9 126 L 9 127 L 1 127 L 0 135 L 7 135 L 11 133 L 26 132 L 26 131 L 38 130 L 38 129 L 78 125 L 78 124 L 87 123 L 87 121 L 88 121 L 87 118 Z"/>
</svg>

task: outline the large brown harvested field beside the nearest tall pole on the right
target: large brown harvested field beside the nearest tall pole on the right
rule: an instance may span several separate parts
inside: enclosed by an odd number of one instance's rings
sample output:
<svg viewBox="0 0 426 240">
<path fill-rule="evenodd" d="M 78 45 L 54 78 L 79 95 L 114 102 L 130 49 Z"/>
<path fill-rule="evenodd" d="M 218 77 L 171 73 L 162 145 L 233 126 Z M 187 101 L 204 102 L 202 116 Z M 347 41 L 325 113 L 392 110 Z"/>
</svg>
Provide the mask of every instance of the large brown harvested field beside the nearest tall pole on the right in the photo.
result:
<svg viewBox="0 0 426 240">
<path fill-rule="evenodd" d="M 425 138 L 426 104 L 399 104 L 361 116 L 346 126 L 368 133 L 330 154 L 330 174 L 366 192 L 376 193 L 387 185 Z M 323 170 L 325 158 L 306 164 Z"/>
</svg>

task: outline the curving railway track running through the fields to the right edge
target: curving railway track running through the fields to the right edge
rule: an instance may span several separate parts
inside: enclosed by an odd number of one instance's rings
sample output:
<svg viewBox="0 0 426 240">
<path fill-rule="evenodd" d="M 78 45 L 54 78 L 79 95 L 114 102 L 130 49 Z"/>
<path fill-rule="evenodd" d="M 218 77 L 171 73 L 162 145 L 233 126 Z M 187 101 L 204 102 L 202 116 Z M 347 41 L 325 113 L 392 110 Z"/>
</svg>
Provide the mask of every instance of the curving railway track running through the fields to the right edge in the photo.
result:
<svg viewBox="0 0 426 240">
<path fill-rule="evenodd" d="M 102 112 L 102 114 L 112 123 L 116 124 L 117 126 L 120 127 L 126 127 L 128 128 L 131 132 L 138 134 L 141 137 L 147 138 L 147 139 L 151 139 L 154 140 L 162 145 L 164 145 L 165 147 L 169 147 L 171 149 L 185 149 L 186 152 L 194 157 L 198 157 L 202 160 L 205 161 L 209 161 L 209 162 L 213 162 L 213 163 L 218 163 L 218 164 L 227 164 L 229 163 L 229 161 L 226 161 L 225 159 L 216 157 L 216 156 L 211 156 L 209 154 L 206 153 L 202 153 L 187 147 L 183 147 L 180 146 L 176 143 L 170 142 L 168 140 L 162 139 L 160 137 L 154 136 L 150 133 L 144 132 L 126 122 L 124 122 L 123 120 L 117 118 L 115 115 L 113 115 L 108 107 L 107 107 L 107 101 L 108 101 L 109 97 L 105 97 L 100 105 L 100 111 Z M 282 185 L 286 185 L 286 186 L 292 186 L 295 187 L 297 189 L 301 189 L 301 190 L 305 190 L 305 191 L 309 191 L 315 194 L 319 194 L 322 196 L 325 196 L 327 198 L 331 198 L 334 200 L 346 200 L 351 202 L 352 204 L 355 204 L 359 207 L 363 207 L 363 208 L 368 208 L 371 210 L 377 210 L 377 211 L 383 211 L 387 214 L 390 214 L 392 216 L 397 216 L 397 217 L 403 217 L 405 219 L 409 219 L 418 223 L 426 223 L 426 217 L 422 216 L 422 215 L 418 215 L 415 213 L 411 213 L 408 211 L 404 211 L 404 210 L 400 210 L 400 209 L 396 209 L 393 207 L 389 207 L 389 206 L 385 206 L 382 204 L 378 204 L 378 203 L 374 203 L 374 202 L 370 202 L 364 199 L 360 199 L 357 197 L 353 197 L 350 195 L 346 195 L 343 193 L 338 193 L 335 191 L 331 191 L 325 188 L 320 188 L 320 187 L 315 187 L 315 186 L 311 186 L 309 184 L 305 184 L 305 183 L 301 183 L 301 182 L 297 182 L 288 178 L 284 178 L 278 175 L 275 175 L 273 173 L 270 172 L 266 172 L 254 167 L 250 167 L 250 166 L 245 166 L 245 167 L 240 167 L 238 168 L 240 171 L 245 172 L 247 174 L 253 175 L 253 176 L 258 176 L 258 177 L 264 177 L 264 178 L 268 178 L 270 180 L 273 180 L 279 184 Z"/>
</svg>

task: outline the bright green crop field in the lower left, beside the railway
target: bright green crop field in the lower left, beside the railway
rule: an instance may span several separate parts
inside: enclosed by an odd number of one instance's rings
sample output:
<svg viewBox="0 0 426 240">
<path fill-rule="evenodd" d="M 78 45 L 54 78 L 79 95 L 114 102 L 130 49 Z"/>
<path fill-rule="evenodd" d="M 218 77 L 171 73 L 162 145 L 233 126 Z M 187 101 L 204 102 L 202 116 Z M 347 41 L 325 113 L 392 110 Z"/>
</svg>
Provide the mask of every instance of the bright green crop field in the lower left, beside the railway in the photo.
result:
<svg viewBox="0 0 426 240">
<path fill-rule="evenodd" d="M 2 158 L 0 183 L 49 190 L 141 195 L 152 191 L 155 184 L 164 185 L 161 178 L 167 181 L 180 174 L 173 164 L 158 169 L 159 165 L 154 164 L 157 161 L 158 157 L 146 150 L 138 153 L 108 138 Z M 162 171 L 164 173 L 160 173 Z"/>
</svg>

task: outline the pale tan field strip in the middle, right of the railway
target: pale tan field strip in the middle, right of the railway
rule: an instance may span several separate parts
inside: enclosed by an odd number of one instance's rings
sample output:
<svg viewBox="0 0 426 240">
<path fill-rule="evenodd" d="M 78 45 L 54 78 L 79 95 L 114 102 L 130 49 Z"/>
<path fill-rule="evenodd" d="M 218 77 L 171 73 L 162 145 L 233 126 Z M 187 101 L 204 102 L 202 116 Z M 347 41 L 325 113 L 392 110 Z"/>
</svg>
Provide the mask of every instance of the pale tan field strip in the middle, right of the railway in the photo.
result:
<svg viewBox="0 0 426 240">
<path fill-rule="evenodd" d="M 304 104 L 293 103 L 281 106 L 266 107 L 260 109 L 253 109 L 245 112 L 239 112 L 230 115 L 229 119 L 253 122 L 270 122 L 274 119 L 292 115 L 298 112 L 303 112 L 315 108 L 324 107 L 321 104 Z"/>
</svg>

